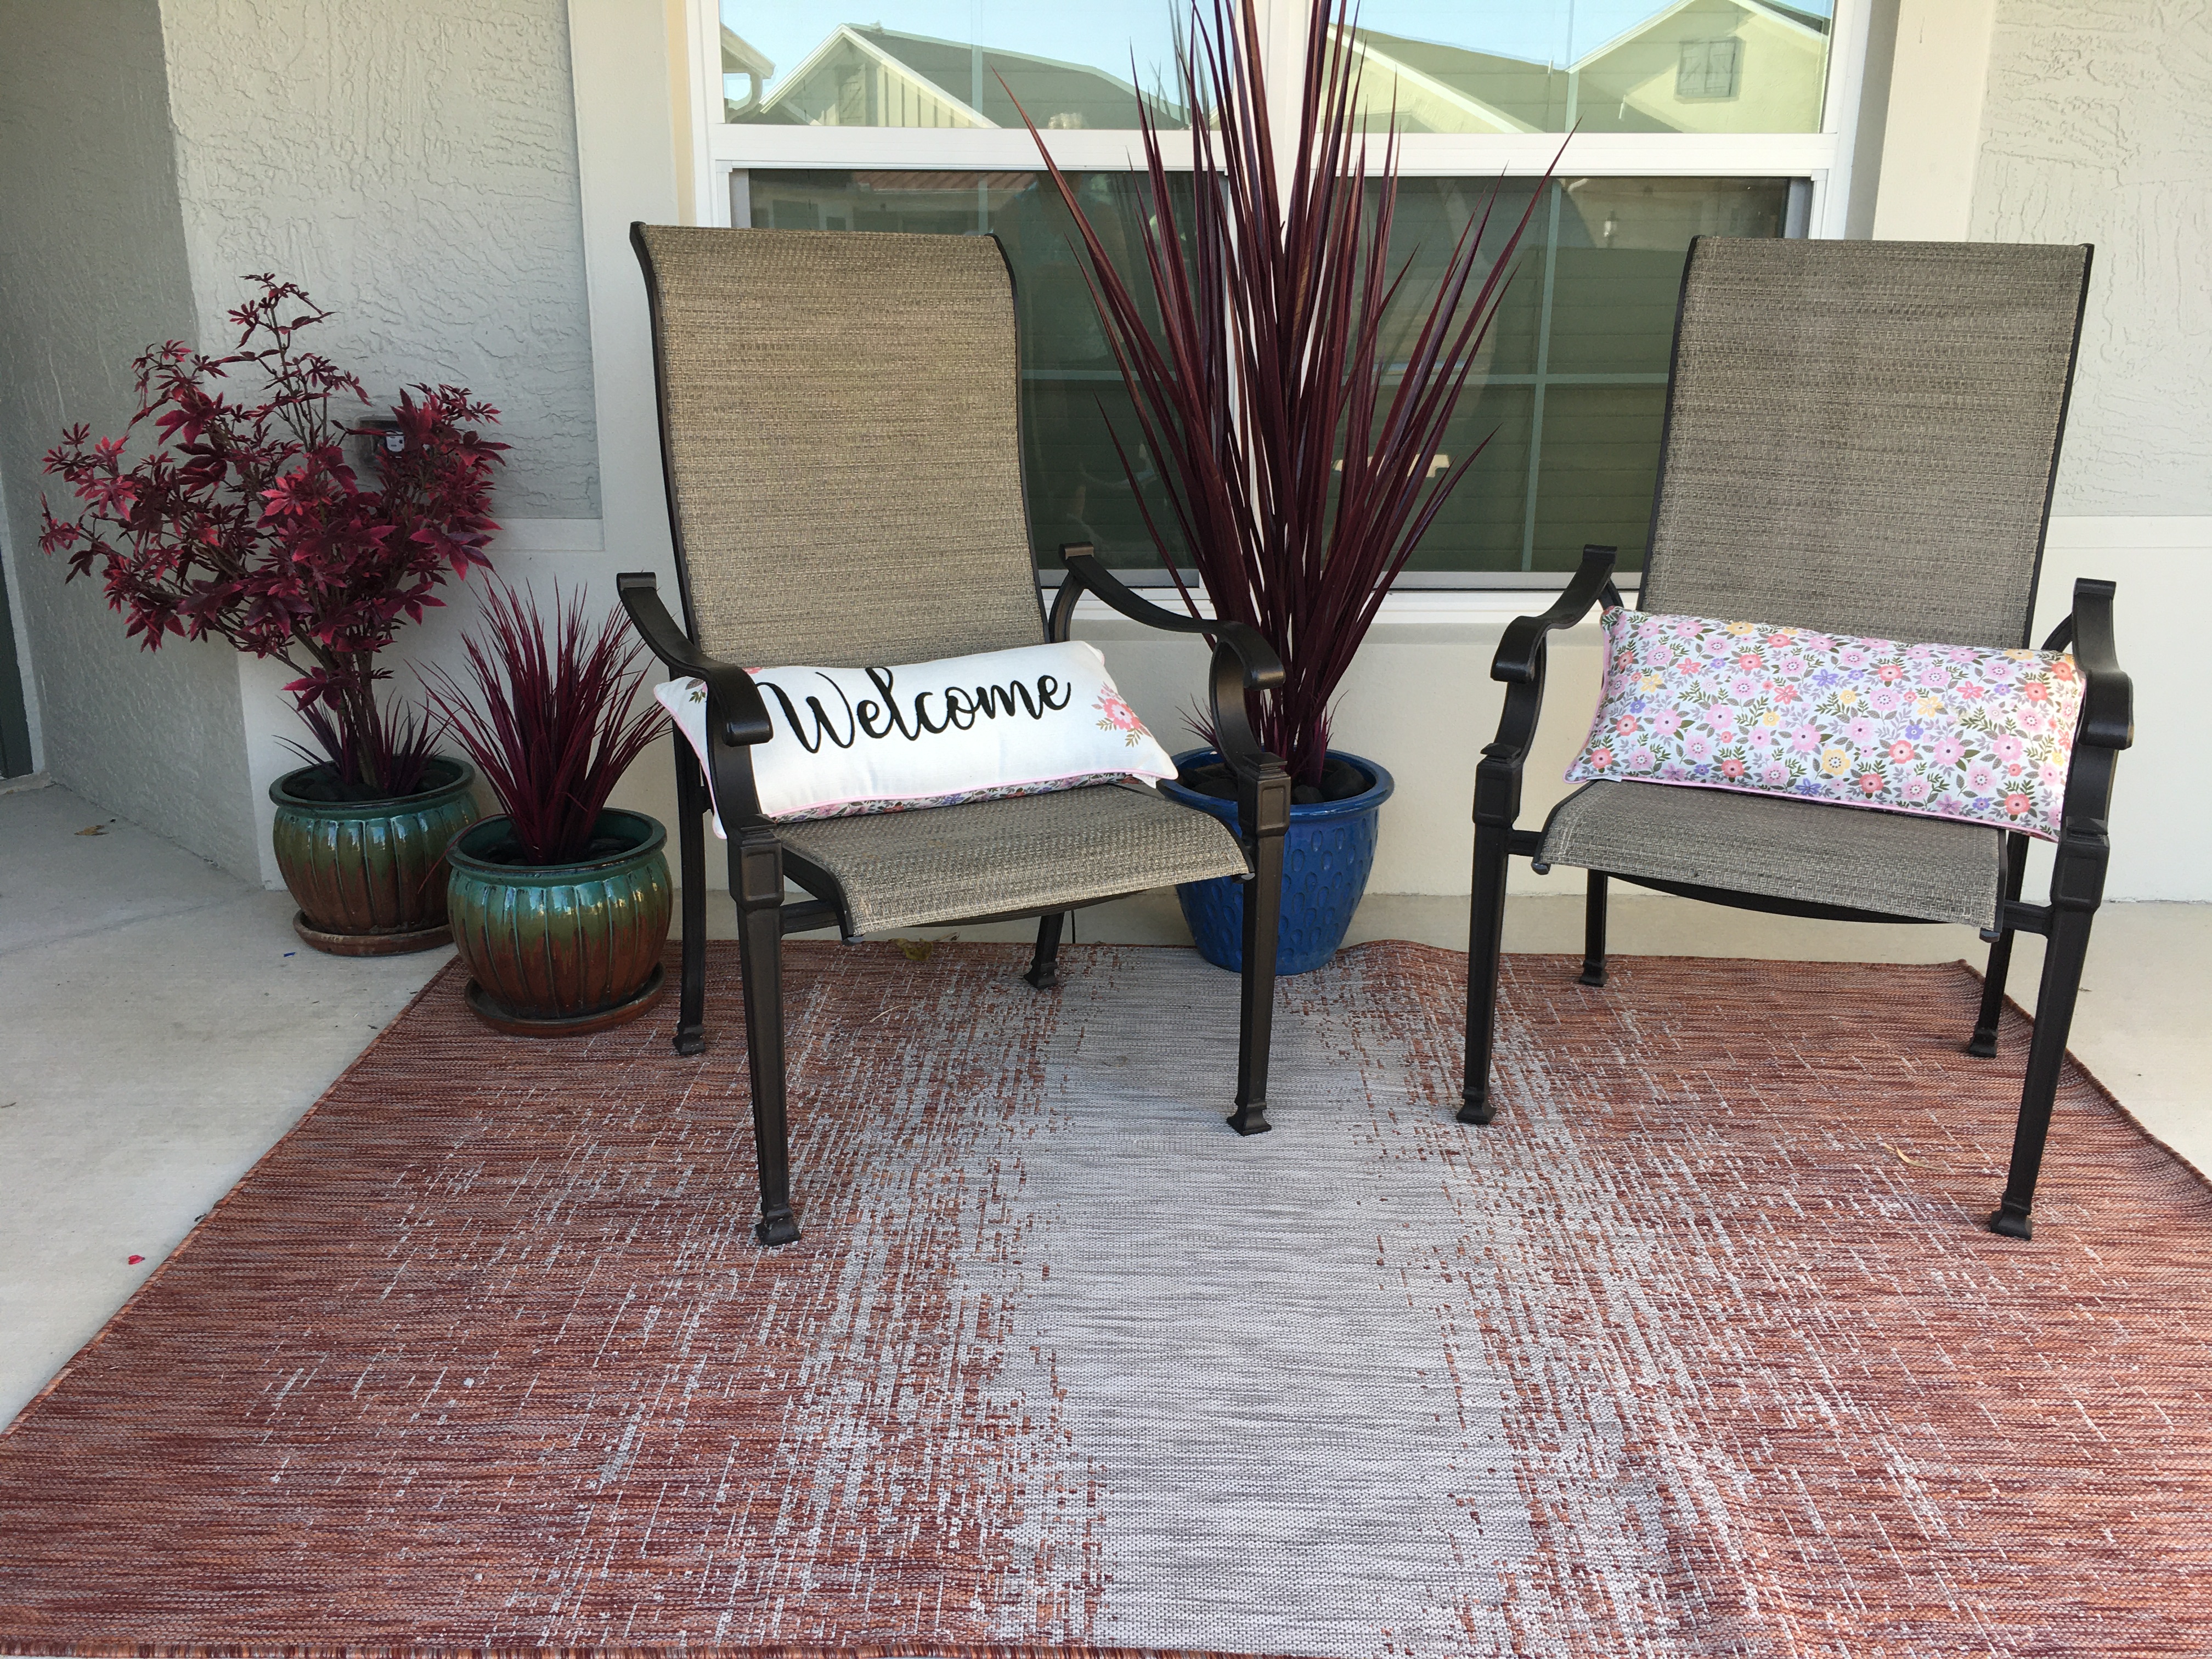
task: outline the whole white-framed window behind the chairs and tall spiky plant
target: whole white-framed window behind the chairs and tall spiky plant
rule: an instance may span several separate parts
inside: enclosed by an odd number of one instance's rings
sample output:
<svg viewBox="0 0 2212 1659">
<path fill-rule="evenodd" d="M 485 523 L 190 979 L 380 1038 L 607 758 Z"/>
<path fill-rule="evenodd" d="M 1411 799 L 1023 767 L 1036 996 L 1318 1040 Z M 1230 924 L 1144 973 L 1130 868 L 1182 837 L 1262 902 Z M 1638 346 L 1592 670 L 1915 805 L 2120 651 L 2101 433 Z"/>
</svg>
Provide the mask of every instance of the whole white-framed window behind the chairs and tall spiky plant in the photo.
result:
<svg viewBox="0 0 2212 1659">
<path fill-rule="evenodd" d="M 1188 166 L 1168 7 L 887 0 L 849 20 L 825 0 L 697 4 L 699 38 L 719 42 L 701 77 L 726 117 L 706 137 L 706 212 L 995 232 L 1018 285 L 1040 564 L 1062 542 L 1093 542 L 1113 564 L 1152 568 L 1144 507 L 1161 507 L 1157 480 L 1020 111 L 1048 131 L 1086 212 L 1133 226 L 1139 104 L 1166 128 L 1170 166 Z M 1396 106 L 1407 133 L 1394 250 L 1413 261 L 1407 307 L 1493 192 L 1498 239 L 1535 206 L 1438 456 L 1438 471 L 1469 476 L 1407 584 L 1557 584 L 1584 542 L 1621 546 L 1635 568 L 1690 239 L 1840 228 L 1836 113 L 1851 100 L 1832 82 L 1851 60 L 1832 40 L 1856 40 L 1863 15 L 1836 4 L 1840 22 L 1825 0 L 1369 0 L 1349 44 L 1374 124 Z M 1263 4 L 1261 27 L 1270 75 L 1296 75 L 1281 58 L 1303 11 Z M 1562 177 L 1544 181 L 1571 126 Z M 1110 431 L 1137 458 L 1135 487 Z"/>
</svg>

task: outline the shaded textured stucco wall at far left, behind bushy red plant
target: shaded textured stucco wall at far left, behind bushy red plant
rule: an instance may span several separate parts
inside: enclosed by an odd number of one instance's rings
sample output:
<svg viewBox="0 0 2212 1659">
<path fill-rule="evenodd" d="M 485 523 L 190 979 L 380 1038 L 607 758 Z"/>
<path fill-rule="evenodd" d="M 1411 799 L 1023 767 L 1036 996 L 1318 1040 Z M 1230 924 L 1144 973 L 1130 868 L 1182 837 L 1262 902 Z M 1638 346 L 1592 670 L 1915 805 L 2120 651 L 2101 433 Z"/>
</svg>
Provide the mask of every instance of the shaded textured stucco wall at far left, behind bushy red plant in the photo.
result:
<svg viewBox="0 0 2212 1659">
<path fill-rule="evenodd" d="M 192 338 L 153 0 L 0 0 L 0 471 L 46 768 L 252 874 L 239 679 L 223 646 L 148 657 L 97 582 L 38 553 L 40 456 L 119 431 L 131 358 Z"/>
</svg>

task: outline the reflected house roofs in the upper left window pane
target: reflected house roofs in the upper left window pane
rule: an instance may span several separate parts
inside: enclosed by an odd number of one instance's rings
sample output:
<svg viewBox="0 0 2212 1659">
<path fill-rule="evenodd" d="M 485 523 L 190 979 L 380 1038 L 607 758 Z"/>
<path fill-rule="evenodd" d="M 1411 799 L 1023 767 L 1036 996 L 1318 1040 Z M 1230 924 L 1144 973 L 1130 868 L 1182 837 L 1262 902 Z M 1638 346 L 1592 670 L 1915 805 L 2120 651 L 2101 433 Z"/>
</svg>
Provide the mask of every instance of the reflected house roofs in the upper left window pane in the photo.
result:
<svg viewBox="0 0 2212 1659">
<path fill-rule="evenodd" d="M 743 73 L 732 64 L 730 42 L 745 44 L 723 29 L 723 71 Z M 849 22 L 841 22 L 757 106 L 732 106 L 730 119 L 770 126 L 1020 128 L 1015 97 L 1037 126 L 1055 131 L 1133 128 L 1139 100 L 1155 124 L 1183 126 L 1177 104 L 1139 93 L 1104 69 Z"/>
</svg>

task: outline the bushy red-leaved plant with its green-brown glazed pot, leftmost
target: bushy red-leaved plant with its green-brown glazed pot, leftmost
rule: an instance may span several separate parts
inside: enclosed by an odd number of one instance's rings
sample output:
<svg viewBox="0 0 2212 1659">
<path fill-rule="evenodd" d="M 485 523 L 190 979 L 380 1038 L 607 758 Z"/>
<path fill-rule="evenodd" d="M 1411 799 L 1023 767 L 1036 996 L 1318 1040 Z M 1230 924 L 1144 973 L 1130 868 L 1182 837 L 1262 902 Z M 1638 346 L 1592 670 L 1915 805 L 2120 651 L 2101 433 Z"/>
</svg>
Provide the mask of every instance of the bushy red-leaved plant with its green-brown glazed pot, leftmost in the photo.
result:
<svg viewBox="0 0 2212 1659">
<path fill-rule="evenodd" d="M 507 445 L 471 422 L 498 409 L 460 387 L 403 392 L 363 482 L 345 460 L 358 427 L 332 405 L 367 394 L 299 341 L 330 312 L 270 274 L 248 281 L 261 294 L 230 312 L 237 349 L 148 347 L 124 436 L 62 434 L 46 471 L 84 507 L 55 518 L 42 498 L 40 549 L 69 555 L 71 582 L 97 566 L 146 650 L 212 635 L 292 668 L 312 748 L 292 745 L 307 765 L 270 799 L 294 927 L 347 956 L 420 951 L 447 940 L 445 843 L 476 821 L 473 774 L 436 754 L 429 719 L 378 701 L 389 670 L 376 657 L 440 604 L 449 575 L 487 564 L 491 465 Z M 232 398 L 221 383 L 239 372 L 261 385 Z M 148 422 L 150 447 L 126 465 Z"/>
</svg>

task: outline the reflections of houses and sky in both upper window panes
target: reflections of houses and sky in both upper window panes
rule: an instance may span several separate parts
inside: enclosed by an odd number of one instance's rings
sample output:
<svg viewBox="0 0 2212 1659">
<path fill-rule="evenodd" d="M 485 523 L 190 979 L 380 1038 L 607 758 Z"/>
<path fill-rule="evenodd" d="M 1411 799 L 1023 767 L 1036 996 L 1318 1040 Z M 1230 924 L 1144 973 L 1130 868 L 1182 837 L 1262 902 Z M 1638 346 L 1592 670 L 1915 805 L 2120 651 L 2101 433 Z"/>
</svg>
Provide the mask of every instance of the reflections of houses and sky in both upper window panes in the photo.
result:
<svg viewBox="0 0 2212 1659">
<path fill-rule="evenodd" d="M 1834 0 L 1369 0 L 1369 128 L 1814 133 Z M 770 126 L 1183 126 L 1175 7 L 723 0 L 726 119 Z M 1015 108 L 1020 100 L 1020 108 Z"/>
</svg>

